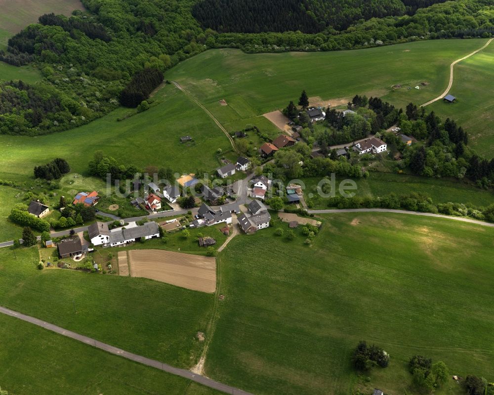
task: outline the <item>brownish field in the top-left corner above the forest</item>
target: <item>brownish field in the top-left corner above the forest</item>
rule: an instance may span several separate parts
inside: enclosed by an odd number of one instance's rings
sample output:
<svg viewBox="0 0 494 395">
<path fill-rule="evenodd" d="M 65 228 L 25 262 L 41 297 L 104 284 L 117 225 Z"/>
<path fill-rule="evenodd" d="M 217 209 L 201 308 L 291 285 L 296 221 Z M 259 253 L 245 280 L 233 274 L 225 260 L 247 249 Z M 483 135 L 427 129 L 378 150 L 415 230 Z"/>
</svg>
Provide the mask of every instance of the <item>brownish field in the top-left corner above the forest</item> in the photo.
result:
<svg viewBox="0 0 494 395">
<path fill-rule="evenodd" d="M 0 9 L 0 28 L 13 35 L 38 22 L 42 14 L 70 16 L 72 11 L 84 6 L 80 0 L 0 0 Z"/>
</svg>

